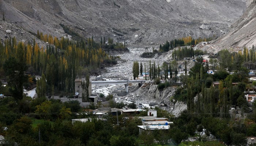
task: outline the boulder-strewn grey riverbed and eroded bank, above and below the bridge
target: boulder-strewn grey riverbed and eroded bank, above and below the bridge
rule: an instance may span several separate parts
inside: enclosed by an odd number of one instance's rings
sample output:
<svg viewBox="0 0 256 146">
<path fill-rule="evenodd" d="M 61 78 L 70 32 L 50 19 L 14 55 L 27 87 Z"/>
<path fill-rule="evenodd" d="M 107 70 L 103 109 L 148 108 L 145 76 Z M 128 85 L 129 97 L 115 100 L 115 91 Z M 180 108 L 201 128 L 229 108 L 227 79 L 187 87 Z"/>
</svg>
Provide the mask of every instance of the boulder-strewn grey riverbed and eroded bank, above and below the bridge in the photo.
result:
<svg viewBox="0 0 256 146">
<path fill-rule="evenodd" d="M 139 64 L 142 62 L 143 70 L 144 64 L 146 64 L 146 68 L 148 68 L 148 62 L 154 62 L 156 65 L 162 65 L 164 61 L 170 62 L 172 61 L 171 51 L 162 54 L 156 54 L 153 58 L 141 58 L 140 54 L 144 51 L 152 51 L 152 47 L 157 48 L 158 46 L 151 46 L 145 50 L 146 47 L 129 48 L 129 52 L 124 54 L 117 54 L 121 57 L 120 61 L 118 61 L 117 65 L 106 68 L 106 73 L 102 75 L 111 75 L 111 76 L 124 76 L 128 77 L 132 80 L 132 66 L 133 61 L 138 61 Z M 182 64 L 182 62 L 178 62 L 178 64 Z M 106 80 L 111 80 L 110 78 Z M 95 91 L 96 89 L 96 91 Z M 157 89 L 157 85 L 145 83 L 141 87 L 137 84 L 129 84 L 129 92 L 125 92 L 124 85 L 101 85 L 97 87 L 92 87 L 92 93 L 103 93 L 105 96 L 108 94 L 113 94 L 116 102 L 124 102 L 124 103 L 132 103 L 135 101 L 137 108 L 154 108 L 155 106 L 159 106 L 162 109 L 165 109 L 172 114 L 178 116 L 181 111 L 187 109 L 187 105 L 182 102 L 172 102 L 170 101 L 170 97 L 174 95 L 176 87 L 169 87 L 164 89 L 163 91 L 159 91 Z"/>
</svg>

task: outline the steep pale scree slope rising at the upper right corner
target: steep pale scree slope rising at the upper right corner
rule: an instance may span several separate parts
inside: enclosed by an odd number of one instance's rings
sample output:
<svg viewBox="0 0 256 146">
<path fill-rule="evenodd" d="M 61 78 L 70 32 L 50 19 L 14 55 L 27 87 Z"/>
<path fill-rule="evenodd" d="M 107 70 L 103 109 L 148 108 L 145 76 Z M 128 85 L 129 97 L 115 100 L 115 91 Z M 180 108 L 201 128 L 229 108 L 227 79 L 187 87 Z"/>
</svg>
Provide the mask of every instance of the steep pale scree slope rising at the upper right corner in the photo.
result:
<svg viewBox="0 0 256 146">
<path fill-rule="evenodd" d="M 256 45 L 256 0 L 244 14 L 230 27 L 227 34 L 217 39 L 214 44 L 219 48 L 243 49 L 244 46 Z"/>
</svg>

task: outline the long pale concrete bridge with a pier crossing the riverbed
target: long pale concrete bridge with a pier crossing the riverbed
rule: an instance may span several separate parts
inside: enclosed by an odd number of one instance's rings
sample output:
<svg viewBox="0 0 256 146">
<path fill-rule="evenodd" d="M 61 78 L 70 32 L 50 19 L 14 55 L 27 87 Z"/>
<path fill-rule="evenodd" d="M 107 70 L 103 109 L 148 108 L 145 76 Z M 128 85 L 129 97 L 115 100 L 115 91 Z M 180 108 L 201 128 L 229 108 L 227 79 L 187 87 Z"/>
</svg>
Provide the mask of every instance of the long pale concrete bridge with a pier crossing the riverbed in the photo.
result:
<svg viewBox="0 0 256 146">
<path fill-rule="evenodd" d="M 111 81 L 91 81 L 91 85 L 125 85 L 125 91 L 128 92 L 128 84 L 143 84 L 145 80 L 111 80 Z"/>
</svg>

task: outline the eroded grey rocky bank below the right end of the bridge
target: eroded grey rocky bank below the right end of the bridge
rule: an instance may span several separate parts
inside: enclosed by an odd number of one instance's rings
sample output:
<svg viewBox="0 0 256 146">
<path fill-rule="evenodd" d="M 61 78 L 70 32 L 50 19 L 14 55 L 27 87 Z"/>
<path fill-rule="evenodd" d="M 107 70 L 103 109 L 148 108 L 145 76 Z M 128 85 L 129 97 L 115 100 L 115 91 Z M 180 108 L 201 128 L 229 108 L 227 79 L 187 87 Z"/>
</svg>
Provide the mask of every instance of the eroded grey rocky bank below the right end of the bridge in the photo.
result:
<svg viewBox="0 0 256 146">
<path fill-rule="evenodd" d="M 158 90 L 157 85 L 154 84 L 143 84 L 142 87 L 138 85 L 129 85 L 129 93 L 125 96 L 118 96 L 122 94 L 120 90 L 123 89 L 121 86 L 115 86 L 112 88 L 112 93 L 116 97 L 117 102 L 133 102 L 137 107 L 144 107 L 144 104 L 150 106 L 158 106 L 175 116 L 179 116 L 182 111 L 187 110 L 187 104 L 182 101 L 170 101 L 170 98 L 174 96 L 176 87 L 168 87 L 164 90 Z"/>
</svg>

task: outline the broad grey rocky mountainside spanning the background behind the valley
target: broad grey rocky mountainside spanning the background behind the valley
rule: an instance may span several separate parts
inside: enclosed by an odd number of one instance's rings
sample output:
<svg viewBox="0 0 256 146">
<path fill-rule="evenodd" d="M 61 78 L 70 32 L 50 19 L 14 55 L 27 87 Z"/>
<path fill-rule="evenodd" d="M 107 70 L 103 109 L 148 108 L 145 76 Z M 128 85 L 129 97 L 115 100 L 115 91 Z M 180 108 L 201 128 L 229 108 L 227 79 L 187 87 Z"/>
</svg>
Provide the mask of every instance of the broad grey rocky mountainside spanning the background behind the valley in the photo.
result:
<svg viewBox="0 0 256 146">
<path fill-rule="evenodd" d="M 221 36 L 242 15 L 248 1 L 0 0 L 0 18 L 4 14 L 7 22 L 33 33 L 39 30 L 61 37 L 67 35 L 63 24 L 82 37 L 149 44 L 188 35 Z"/>
</svg>

